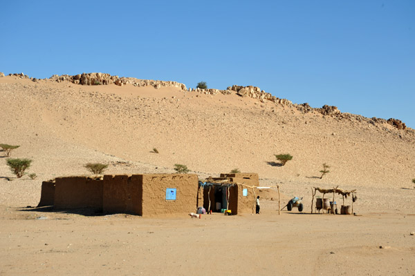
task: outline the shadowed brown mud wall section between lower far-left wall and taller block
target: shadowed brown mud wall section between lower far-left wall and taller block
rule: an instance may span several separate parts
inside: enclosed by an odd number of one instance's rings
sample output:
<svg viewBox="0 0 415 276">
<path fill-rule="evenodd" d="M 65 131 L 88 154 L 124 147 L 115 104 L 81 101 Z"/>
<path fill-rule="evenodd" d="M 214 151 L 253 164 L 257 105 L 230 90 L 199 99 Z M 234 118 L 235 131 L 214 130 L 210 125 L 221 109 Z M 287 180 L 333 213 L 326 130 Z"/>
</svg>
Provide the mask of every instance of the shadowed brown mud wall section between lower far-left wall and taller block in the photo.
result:
<svg viewBox="0 0 415 276">
<path fill-rule="evenodd" d="M 102 209 L 103 181 L 88 177 L 59 177 L 55 180 L 55 209 Z"/>
</svg>

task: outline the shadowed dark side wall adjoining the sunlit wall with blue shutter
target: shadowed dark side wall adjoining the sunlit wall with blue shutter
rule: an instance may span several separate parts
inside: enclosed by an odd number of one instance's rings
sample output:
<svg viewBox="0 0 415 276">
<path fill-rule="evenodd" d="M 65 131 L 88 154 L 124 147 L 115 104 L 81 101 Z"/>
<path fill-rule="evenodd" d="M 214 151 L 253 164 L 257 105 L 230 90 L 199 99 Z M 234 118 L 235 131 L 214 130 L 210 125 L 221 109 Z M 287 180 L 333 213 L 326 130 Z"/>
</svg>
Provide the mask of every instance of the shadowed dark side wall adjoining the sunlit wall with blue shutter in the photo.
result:
<svg viewBox="0 0 415 276">
<path fill-rule="evenodd" d="M 142 215 L 142 175 L 104 175 L 104 213 Z"/>
</svg>

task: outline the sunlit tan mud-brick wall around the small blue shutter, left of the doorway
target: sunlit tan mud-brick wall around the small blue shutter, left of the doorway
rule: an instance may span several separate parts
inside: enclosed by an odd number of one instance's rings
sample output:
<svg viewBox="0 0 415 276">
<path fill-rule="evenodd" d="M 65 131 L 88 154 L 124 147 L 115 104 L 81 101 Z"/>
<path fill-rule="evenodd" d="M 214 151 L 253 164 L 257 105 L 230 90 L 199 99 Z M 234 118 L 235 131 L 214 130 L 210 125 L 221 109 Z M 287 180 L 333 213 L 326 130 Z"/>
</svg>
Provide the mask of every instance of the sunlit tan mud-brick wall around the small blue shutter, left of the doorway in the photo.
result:
<svg viewBox="0 0 415 276">
<path fill-rule="evenodd" d="M 142 216 L 196 212 L 197 175 L 154 174 L 141 177 Z M 176 188 L 176 200 L 166 200 L 167 188 Z"/>
</svg>

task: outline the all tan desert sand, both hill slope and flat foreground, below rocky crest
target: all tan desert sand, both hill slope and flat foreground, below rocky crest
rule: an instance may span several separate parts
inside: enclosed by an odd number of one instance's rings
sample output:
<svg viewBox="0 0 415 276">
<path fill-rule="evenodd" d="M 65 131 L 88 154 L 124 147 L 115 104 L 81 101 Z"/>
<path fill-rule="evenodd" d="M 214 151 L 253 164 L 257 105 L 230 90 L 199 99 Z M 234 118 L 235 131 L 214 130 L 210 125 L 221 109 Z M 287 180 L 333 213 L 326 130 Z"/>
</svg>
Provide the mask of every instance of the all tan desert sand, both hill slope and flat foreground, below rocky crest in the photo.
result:
<svg viewBox="0 0 415 276">
<path fill-rule="evenodd" d="M 37 175 L 17 179 L 0 152 L 0 275 L 415 275 L 411 128 L 234 94 L 16 76 L 0 77 L 0 101 L 0 143 L 19 145 L 11 157 L 33 159 Z M 279 153 L 293 160 L 277 166 Z M 200 179 L 258 172 L 261 185 L 281 187 L 283 206 L 304 197 L 304 211 L 278 215 L 275 190 L 260 193 L 260 215 L 27 208 L 42 181 L 88 175 L 87 162 L 109 164 L 106 174 L 169 173 L 174 164 Z M 323 163 L 331 168 L 320 179 Z M 358 190 L 356 215 L 311 215 L 316 186 Z"/>
</svg>

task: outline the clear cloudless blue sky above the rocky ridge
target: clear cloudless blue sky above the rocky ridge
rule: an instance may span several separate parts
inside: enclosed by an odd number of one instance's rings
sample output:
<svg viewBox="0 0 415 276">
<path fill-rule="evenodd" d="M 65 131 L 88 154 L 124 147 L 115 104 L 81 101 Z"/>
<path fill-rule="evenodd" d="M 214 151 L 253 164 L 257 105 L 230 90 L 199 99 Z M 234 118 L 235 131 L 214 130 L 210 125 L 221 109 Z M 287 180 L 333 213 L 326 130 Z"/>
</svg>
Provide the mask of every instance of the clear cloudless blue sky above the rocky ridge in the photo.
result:
<svg viewBox="0 0 415 276">
<path fill-rule="evenodd" d="M 0 71 L 259 86 L 415 128 L 415 1 L 1 1 Z"/>
</svg>

